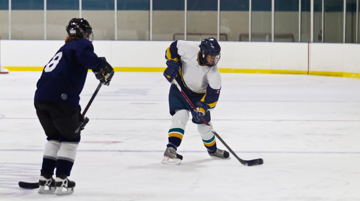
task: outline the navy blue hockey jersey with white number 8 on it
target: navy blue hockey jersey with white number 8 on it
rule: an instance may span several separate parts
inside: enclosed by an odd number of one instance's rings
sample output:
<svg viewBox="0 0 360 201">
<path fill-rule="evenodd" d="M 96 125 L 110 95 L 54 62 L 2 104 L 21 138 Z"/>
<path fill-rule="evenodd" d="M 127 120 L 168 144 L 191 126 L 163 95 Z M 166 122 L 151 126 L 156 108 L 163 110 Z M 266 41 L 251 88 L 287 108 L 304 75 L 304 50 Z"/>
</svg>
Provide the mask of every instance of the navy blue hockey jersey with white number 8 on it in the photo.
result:
<svg viewBox="0 0 360 201">
<path fill-rule="evenodd" d="M 88 69 L 100 70 L 102 63 L 89 40 L 66 43 L 44 67 L 34 99 L 78 108 Z"/>
</svg>

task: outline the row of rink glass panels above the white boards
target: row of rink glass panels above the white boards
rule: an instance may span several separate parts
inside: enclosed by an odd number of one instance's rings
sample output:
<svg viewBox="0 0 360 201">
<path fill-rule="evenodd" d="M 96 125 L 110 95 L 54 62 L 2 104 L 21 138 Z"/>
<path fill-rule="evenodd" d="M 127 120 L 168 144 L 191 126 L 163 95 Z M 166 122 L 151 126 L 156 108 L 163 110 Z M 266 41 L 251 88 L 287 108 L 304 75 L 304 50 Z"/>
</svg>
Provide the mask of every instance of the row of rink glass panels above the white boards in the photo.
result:
<svg viewBox="0 0 360 201">
<path fill-rule="evenodd" d="M 249 0 L 221 0 L 219 22 L 218 0 L 187 0 L 187 24 L 185 0 L 152 0 L 152 13 L 150 0 L 45 2 L 46 6 L 44 0 L 12 0 L 9 12 L 9 0 L 0 1 L 1 38 L 62 40 L 66 36 L 63 31 L 68 21 L 74 17 L 84 17 L 94 28 L 95 40 L 185 39 L 185 26 L 186 40 L 199 41 L 210 36 L 217 37 L 218 32 L 219 41 L 239 41 L 240 35 L 243 35 L 242 41 L 249 40 Z M 251 41 L 271 41 L 272 0 L 251 2 Z M 274 41 L 287 41 L 288 39 L 277 36 L 282 33 L 293 35 L 295 42 L 299 40 L 298 4 L 299 0 L 274 0 Z M 356 4 L 357 0 L 346 0 L 344 37 L 343 0 L 324 0 L 324 8 L 322 0 L 314 0 L 313 33 L 311 0 L 301 0 L 300 41 L 343 43 L 345 38 L 345 43 L 359 42 L 356 30 L 359 16 L 356 13 L 360 12 L 357 12 L 359 6 L 356 7 Z"/>
</svg>

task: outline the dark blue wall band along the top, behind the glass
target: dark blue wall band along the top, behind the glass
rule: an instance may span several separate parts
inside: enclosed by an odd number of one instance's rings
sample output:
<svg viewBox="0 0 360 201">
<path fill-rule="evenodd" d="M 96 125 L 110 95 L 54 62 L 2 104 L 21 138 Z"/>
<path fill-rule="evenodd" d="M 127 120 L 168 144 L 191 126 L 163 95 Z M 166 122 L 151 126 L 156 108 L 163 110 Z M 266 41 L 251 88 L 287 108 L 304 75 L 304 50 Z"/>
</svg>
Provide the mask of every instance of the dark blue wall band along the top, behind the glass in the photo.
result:
<svg viewBox="0 0 360 201">
<path fill-rule="evenodd" d="M 327 1 L 325 12 L 342 12 L 342 0 Z M 47 0 L 48 10 L 78 10 L 78 0 Z M 113 0 L 82 0 L 83 10 L 114 10 Z M 8 0 L 0 1 L 0 10 L 8 10 Z M 14 10 L 42 10 L 44 0 L 12 0 Z M 117 10 L 149 10 L 150 0 L 117 0 Z M 188 10 L 217 10 L 217 0 L 188 0 Z M 296 11 L 299 5 L 294 1 L 275 0 L 275 11 Z M 183 0 L 158 0 L 153 10 L 184 10 Z M 221 0 L 220 10 L 247 11 L 249 0 Z M 271 11 L 271 0 L 252 0 L 253 11 Z M 347 3 L 346 10 L 356 10 L 356 3 Z M 301 11 L 310 12 L 310 0 L 301 0 Z M 321 12 L 321 1 L 314 1 L 314 11 Z"/>
</svg>

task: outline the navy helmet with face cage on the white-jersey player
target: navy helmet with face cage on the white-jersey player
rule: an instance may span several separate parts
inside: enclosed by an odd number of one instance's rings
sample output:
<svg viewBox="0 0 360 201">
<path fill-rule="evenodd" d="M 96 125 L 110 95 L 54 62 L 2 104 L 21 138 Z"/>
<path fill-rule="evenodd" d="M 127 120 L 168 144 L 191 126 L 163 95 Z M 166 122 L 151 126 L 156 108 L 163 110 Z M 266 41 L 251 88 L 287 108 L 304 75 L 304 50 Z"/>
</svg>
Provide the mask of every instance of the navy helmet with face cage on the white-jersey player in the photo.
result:
<svg viewBox="0 0 360 201">
<path fill-rule="evenodd" d="M 215 66 L 220 60 L 220 45 L 213 37 L 203 39 L 199 45 L 202 53 L 202 62 L 207 66 Z M 209 56 L 208 56 L 209 55 Z"/>
</svg>

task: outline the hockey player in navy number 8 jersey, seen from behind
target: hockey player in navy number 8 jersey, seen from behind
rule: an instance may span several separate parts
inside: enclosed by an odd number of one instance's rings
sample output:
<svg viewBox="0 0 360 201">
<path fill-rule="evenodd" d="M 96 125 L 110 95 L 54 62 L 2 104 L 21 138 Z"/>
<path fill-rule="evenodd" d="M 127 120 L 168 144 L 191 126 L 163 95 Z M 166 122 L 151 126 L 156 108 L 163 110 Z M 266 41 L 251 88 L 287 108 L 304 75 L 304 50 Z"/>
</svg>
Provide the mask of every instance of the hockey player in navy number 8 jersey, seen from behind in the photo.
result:
<svg viewBox="0 0 360 201">
<path fill-rule="evenodd" d="M 106 59 L 94 53 L 93 32 L 86 19 L 71 19 L 66 31 L 65 44 L 44 67 L 34 98 L 37 117 L 47 136 L 39 193 L 56 191 L 57 195 L 70 194 L 75 187 L 75 182 L 67 177 L 74 164 L 81 130 L 87 123 L 79 105 L 87 71 L 91 69 L 104 85 L 109 85 L 114 74 Z"/>
</svg>

